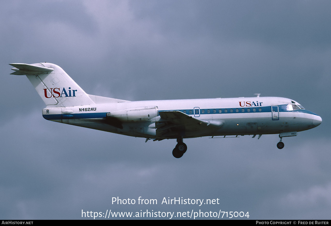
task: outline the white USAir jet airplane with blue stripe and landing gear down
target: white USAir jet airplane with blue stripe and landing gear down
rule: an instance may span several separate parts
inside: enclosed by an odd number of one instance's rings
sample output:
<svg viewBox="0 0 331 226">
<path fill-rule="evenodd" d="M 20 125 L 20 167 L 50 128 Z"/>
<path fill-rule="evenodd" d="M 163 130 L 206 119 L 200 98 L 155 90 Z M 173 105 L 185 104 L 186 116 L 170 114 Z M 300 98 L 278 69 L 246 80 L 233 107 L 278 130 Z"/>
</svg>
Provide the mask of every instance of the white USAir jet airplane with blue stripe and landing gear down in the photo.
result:
<svg viewBox="0 0 331 226">
<path fill-rule="evenodd" d="M 46 108 L 47 120 L 153 141 L 176 139 L 172 151 L 180 158 L 187 150 L 184 138 L 279 134 L 321 124 L 322 118 L 298 102 L 282 97 L 239 97 L 188 100 L 127 101 L 89 95 L 59 66 L 51 63 L 10 64 L 13 75 L 26 75 Z"/>
</svg>

